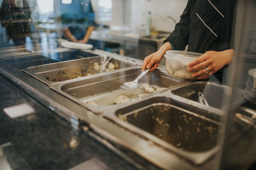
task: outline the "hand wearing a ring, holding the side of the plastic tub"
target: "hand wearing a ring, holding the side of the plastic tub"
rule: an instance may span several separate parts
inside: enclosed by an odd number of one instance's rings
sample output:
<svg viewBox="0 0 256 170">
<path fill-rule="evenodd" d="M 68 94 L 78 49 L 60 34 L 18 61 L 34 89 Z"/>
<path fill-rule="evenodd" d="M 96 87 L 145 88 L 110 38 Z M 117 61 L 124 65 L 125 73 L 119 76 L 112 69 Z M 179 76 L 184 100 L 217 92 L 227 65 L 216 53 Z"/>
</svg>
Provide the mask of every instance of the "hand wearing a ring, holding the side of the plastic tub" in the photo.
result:
<svg viewBox="0 0 256 170">
<path fill-rule="evenodd" d="M 208 78 L 212 74 L 219 71 L 222 67 L 232 62 L 234 50 L 225 50 L 221 52 L 208 51 L 198 57 L 195 61 L 188 64 L 188 71 L 194 71 L 196 69 L 202 69 L 193 77 L 198 77 L 198 80 Z"/>
</svg>

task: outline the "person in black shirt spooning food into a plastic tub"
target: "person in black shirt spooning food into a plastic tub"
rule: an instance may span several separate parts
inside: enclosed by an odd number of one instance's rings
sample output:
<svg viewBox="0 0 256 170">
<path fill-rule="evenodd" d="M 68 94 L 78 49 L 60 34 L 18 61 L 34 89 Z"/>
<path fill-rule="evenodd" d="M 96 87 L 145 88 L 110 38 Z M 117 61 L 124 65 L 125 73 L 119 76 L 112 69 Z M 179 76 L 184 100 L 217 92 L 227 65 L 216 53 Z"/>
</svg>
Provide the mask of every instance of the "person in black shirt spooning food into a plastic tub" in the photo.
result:
<svg viewBox="0 0 256 170">
<path fill-rule="evenodd" d="M 202 80 L 212 74 L 222 83 L 223 69 L 232 62 L 232 26 L 234 25 L 234 0 L 188 0 L 174 31 L 164 40 L 163 46 L 145 57 L 142 70 L 153 71 L 159 66 L 167 50 L 184 50 L 204 53 L 188 65 L 188 71 L 204 68 L 193 77 Z"/>
</svg>

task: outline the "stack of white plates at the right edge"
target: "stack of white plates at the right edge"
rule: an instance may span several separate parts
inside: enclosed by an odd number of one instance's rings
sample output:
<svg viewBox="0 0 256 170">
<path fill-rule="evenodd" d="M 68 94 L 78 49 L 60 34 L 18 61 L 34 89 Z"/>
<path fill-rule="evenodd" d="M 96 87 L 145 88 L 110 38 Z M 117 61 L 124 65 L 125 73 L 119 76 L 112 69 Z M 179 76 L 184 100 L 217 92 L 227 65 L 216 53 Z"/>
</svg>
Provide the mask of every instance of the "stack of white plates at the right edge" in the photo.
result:
<svg viewBox="0 0 256 170">
<path fill-rule="evenodd" d="M 256 68 L 248 71 L 244 95 L 246 99 L 256 104 Z"/>
</svg>

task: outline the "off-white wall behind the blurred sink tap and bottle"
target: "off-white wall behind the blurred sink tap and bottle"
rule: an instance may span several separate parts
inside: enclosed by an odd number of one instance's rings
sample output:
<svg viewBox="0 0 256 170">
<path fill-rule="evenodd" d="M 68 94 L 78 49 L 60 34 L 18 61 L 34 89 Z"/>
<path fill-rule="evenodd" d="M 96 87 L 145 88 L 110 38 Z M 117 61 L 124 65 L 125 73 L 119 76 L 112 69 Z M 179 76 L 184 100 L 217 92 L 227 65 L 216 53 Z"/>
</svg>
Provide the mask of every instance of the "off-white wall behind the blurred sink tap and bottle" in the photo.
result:
<svg viewBox="0 0 256 170">
<path fill-rule="evenodd" d="M 138 31 L 142 25 L 146 25 L 147 13 L 151 11 L 152 25 L 158 31 L 170 32 L 175 23 L 166 17 L 171 16 L 179 22 L 187 3 L 188 0 L 112 0 L 111 24 L 125 25 Z"/>
</svg>

